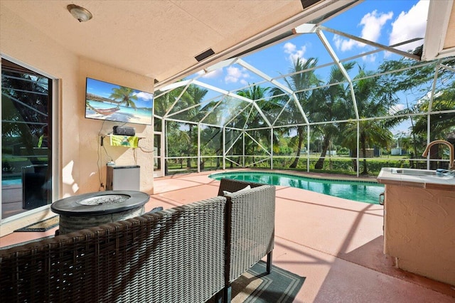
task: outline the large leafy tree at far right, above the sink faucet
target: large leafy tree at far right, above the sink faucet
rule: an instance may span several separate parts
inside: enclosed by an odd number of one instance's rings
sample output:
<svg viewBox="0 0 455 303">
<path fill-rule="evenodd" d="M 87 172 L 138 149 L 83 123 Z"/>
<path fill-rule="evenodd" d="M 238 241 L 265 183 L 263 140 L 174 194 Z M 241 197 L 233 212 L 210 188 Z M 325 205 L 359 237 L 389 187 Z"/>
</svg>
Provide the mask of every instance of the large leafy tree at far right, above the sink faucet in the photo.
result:
<svg viewBox="0 0 455 303">
<path fill-rule="evenodd" d="M 440 112 L 440 114 L 430 117 L 431 129 L 430 139 L 444 139 L 450 132 L 454 130 L 455 113 L 445 112 L 455 108 L 455 82 L 453 68 L 455 60 L 449 59 L 444 61 L 443 65 L 439 65 L 439 61 L 434 64 L 419 66 L 418 68 L 410 68 L 415 65 L 421 65 L 420 62 L 402 58 L 400 60 L 388 60 L 382 63 L 379 68 L 380 73 L 389 70 L 399 70 L 396 73 L 386 73 L 381 78 L 383 83 L 387 83 L 389 90 L 392 92 L 405 92 L 407 95 L 415 95 L 414 100 L 418 100 L 414 106 L 407 103 L 407 108 L 396 113 L 399 117 L 390 119 L 390 122 L 395 124 L 402 122 L 409 117 L 411 122 L 410 144 L 413 146 L 415 155 L 422 154 L 424 146 L 427 142 L 427 115 L 419 115 L 413 117 L 411 114 L 428 112 L 429 111 L 429 93 L 434 88 L 434 97 L 432 102 L 432 111 Z M 444 67 L 443 67 L 444 66 Z M 434 70 L 438 69 L 438 79 L 434 83 Z M 432 147 L 431 154 L 439 153 L 439 145 Z M 410 163 L 413 166 L 413 162 Z M 432 164 L 437 164 L 432 162 Z M 435 167 L 436 168 L 436 167 Z"/>
</svg>

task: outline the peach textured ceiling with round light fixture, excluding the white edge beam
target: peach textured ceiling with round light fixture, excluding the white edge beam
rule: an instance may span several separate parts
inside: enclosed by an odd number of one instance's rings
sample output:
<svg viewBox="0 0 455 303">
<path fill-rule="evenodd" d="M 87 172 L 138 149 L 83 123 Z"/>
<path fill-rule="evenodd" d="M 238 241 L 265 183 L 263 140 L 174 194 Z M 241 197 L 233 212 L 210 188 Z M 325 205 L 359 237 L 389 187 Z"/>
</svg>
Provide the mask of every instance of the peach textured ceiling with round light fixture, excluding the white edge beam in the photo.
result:
<svg viewBox="0 0 455 303">
<path fill-rule="evenodd" d="M 66 9 L 83 6 L 79 23 Z M 39 31 L 100 63 L 164 80 L 303 11 L 301 1 L 1 1 Z"/>
</svg>

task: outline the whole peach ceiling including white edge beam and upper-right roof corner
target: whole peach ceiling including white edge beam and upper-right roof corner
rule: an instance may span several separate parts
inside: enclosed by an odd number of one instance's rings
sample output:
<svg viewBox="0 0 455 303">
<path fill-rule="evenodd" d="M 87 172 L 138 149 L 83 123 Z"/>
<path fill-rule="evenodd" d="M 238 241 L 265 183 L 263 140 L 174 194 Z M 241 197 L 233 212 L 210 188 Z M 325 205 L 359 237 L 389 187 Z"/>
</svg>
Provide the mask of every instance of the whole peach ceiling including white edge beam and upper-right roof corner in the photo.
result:
<svg viewBox="0 0 455 303">
<path fill-rule="evenodd" d="M 267 44 L 353 2 L 361 1 L 1 0 L 0 13 L 16 14 L 77 55 L 146 75 L 161 85 Z M 66 9 L 68 4 L 85 7 L 92 20 L 79 23 Z M 453 1 L 431 4 L 424 60 L 455 53 Z M 195 59 L 209 49 L 214 55 L 202 62 Z"/>
</svg>

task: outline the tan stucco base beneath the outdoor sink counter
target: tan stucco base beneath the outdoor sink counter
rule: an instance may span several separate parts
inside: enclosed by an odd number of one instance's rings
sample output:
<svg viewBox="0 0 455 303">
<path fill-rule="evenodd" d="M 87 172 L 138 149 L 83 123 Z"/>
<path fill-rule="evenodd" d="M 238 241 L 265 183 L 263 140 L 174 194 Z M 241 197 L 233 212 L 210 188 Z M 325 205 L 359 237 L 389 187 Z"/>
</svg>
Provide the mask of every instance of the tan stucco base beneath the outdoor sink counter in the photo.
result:
<svg viewBox="0 0 455 303">
<path fill-rule="evenodd" d="M 397 267 L 455 285 L 455 192 L 385 186 L 384 252 Z"/>
</svg>

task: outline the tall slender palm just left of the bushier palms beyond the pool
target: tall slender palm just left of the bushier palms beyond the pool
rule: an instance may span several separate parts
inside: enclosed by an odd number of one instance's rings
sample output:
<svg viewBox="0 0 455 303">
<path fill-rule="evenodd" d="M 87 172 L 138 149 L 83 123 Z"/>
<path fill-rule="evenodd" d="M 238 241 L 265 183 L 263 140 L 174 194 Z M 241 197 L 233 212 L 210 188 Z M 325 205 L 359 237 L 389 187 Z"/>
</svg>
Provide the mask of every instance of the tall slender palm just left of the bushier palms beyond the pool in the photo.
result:
<svg viewBox="0 0 455 303">
<path fill-rule="evenodd" d="M 295 95 L 304 110 L 311 108 L 311 94 L 313 91 L 309 90 L 309 88 L 321 84 L 321 80 L 319 80 L 314 73 L 314 68 L 317 63 L 317 58 L 309 58 L 306 61 L 297 58 L 294 61 L 294 65 L 289 69 L 289 73 L 291 73 L 289 79 L 284 78 L 289 89 L 296 92 Z M 289 98 L 289 95 L 285 95 L 285 92 L 279 88 L 274 88 L 272 90 L 272 95 L 281 95 L 279 99 L 282 105 L 286 104 Z M 282 117 L 282 119 L 286 119 L 290 125 L 302 124 L 304 121 L 301 113 L 291 104 L 292 103 L 290 102 L 289 111 L 287 112 L 286 117 Z M 296 133 L 295 139 L 291 139 L 291 142 L 296 142 L 296 156 L 291 165 L 289 165 L 289 168 L 291 169 L 295 169 L 299 163 L 301 146 L 304 143 L 305 129 L 306 127 L 303 125 L 296 125 L 295 127 L 289 128 L 289 132 Z"/>
</svg>

